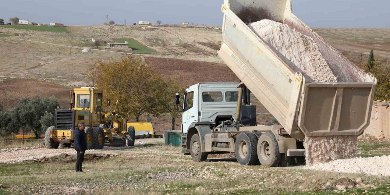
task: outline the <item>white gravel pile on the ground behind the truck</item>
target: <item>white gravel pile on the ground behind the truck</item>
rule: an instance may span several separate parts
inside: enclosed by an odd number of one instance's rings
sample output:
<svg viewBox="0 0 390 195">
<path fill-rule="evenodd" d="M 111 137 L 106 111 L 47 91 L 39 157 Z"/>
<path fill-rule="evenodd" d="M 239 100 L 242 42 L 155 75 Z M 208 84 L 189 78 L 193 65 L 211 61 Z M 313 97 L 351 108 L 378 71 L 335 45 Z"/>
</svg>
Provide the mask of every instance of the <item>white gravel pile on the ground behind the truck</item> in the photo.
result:
<svg viewBox="0 0 390 195">
<path fill-rule="evenodd" d="M 328 163 L 304 166 L 304 169 L 324 170 L 343 173 L 360 173 L 378 176 L 390 176 L 390 156 L 369 158 L 339 159 Z"/>
</svg>

